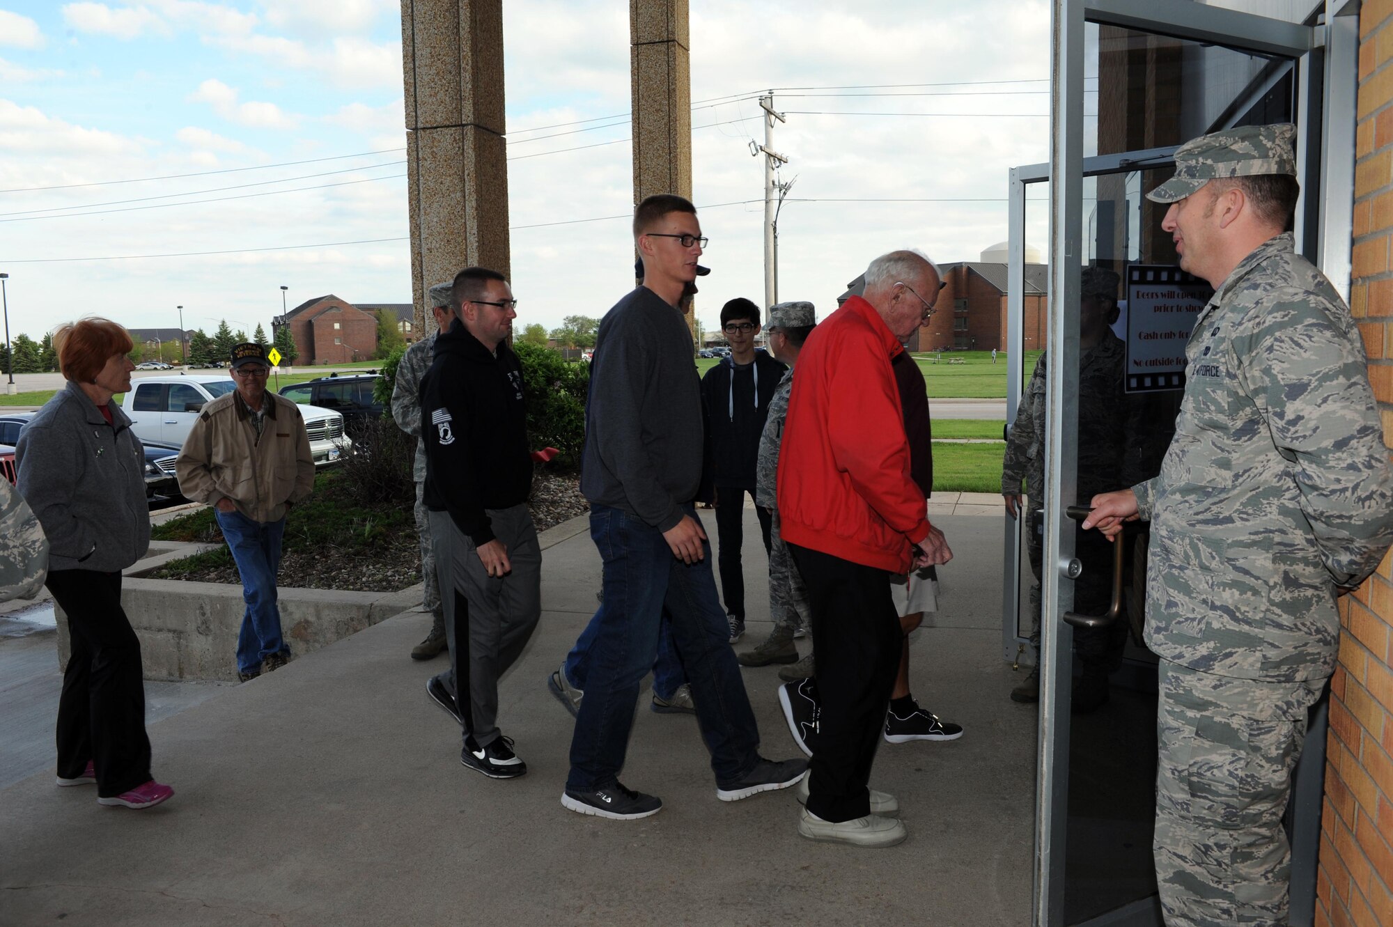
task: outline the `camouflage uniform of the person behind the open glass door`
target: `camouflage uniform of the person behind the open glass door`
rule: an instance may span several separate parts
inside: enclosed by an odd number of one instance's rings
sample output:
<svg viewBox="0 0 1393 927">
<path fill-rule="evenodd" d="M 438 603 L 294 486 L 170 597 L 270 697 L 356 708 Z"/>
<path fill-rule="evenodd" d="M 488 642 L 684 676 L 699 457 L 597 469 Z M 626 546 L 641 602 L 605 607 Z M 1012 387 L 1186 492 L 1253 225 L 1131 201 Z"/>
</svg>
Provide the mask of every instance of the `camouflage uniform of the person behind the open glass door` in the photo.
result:
<svg viewBox="0 0 1393 927">
<path fill-rule="evenodd" d="M 1128 419 L 1130 405 L 1123 393 L 1123 373 L 1127 349 L 1110 330 L 1092 349 L 1082 352 L 1078 365 L 1078 493 L 1087 502 L 1098 493 L 1123 489 L 1128 484 L 1128 436 L 1135 423 Z M 1046 360 L 1042 354 L 1035 363 L 1021 405 L 1015 411 L 1002 464 L 1002 493 L 1018 494 L 1025 480 L 1029 511 L 1025 518 L 1027 550 L 1035 580 L 1031 583 L 1031 643 L 1041 639 L 1041 560 L 1043 557 L 1043 519 L 1036 509 L 1045 501 L 1045 383 Z M 1078 532 L 1074 550 L 1084 564 L 1084 572 L 1074 580 L 1074 611 L 1100 615 L 1112 599 L 1112 546 L 1098 532 Z M 1075 628 L 1074 647 L 1081 660 L 1116 668 L 1120 635 L 1126 624 L 1117 621 L 1109 628 Z"/>
</svg>

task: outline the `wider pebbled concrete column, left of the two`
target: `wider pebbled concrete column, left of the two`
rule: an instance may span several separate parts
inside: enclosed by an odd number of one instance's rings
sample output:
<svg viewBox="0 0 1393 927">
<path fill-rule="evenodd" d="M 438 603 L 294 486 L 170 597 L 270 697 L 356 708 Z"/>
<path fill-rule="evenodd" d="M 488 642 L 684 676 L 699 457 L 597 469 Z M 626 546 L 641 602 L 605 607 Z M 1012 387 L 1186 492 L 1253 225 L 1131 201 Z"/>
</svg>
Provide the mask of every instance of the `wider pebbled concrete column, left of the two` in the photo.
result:
<svg viewBox="0 0 1393 927">
<path fill-rule="evenodd" d="M 469 264 L 510 273 L 501 0 L 401 0 L 411 298 Z"/>
</svg>

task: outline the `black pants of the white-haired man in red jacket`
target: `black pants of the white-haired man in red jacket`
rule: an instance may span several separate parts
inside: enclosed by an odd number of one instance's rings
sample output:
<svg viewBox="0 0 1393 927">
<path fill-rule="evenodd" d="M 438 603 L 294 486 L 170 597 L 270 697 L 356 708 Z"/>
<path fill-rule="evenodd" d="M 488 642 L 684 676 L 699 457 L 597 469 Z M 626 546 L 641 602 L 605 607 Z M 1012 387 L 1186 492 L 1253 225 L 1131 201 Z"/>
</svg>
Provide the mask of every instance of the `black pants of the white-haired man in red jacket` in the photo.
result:
<svg viewBox="0 0 1393 927">
<path fill-rule="evenodd" d="M 825 821 L 850 821 L 871 813 L 866 784 L 904 635 L 887 571 L 797 544 L 788 551 L 808 586 L 822 703 L 808 810 Z"/>
</svg>

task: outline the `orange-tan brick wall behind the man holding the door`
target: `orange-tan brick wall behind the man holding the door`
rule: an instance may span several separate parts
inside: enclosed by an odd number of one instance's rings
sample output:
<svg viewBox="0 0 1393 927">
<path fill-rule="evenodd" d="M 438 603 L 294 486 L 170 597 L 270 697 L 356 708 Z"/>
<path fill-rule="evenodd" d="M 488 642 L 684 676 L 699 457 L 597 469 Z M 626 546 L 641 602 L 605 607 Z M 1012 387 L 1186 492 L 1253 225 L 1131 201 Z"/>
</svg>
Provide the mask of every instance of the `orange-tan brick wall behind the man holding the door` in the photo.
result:
<svg viewBox="0 0 1393 927">
<path fill-rule="evenodd" d="M 1393 436 L 1393 0 L 1360 14 L 1360 93 L 1350 310 Z M 1393 582 L 1376 575 L 1340 601 L 1316 924 L 1393 924 Z"/>
</svg>

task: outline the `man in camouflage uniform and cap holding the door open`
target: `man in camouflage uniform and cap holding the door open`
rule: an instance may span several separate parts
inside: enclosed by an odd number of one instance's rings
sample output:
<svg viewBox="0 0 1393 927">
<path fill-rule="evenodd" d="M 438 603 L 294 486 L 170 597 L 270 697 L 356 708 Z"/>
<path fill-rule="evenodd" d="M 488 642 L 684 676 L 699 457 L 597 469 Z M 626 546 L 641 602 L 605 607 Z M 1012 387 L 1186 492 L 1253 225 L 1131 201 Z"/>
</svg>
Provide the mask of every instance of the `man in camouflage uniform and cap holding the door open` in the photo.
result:
<svg viewBox="0 0 1393 927">
<path fill-rule="evenodd" d="M 1116 539 L 1151 519 L 1160 657 L 1156 881 L 1166 923 L 1284 924 L 1282 827 L 1307 711 L 1334 670 L 1336 599 L 1393 540 L 1393 473 L 1364 342 L 1293 249 L 1291 125 L 1205 135 L 1148 196 L 1209 281 L 1160 475 L 1092 500 Z"/>
</svg>

